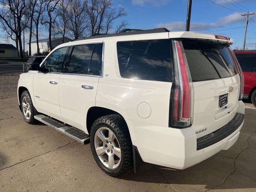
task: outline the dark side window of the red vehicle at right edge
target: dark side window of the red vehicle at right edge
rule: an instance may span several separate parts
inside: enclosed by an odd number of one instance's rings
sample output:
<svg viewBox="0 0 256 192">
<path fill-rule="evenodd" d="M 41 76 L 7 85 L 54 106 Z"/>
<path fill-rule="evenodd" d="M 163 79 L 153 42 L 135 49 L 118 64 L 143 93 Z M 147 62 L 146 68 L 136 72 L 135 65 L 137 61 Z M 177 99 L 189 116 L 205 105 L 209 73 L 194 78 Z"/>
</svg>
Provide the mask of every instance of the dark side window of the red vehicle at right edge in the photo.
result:
<svg viewBox="0 0 256 192">
<path fill-rule="evenodd" d="M 254 54 L 236 54 L 236 58 L 244 72 L 252 71 Z"/>
</svg>

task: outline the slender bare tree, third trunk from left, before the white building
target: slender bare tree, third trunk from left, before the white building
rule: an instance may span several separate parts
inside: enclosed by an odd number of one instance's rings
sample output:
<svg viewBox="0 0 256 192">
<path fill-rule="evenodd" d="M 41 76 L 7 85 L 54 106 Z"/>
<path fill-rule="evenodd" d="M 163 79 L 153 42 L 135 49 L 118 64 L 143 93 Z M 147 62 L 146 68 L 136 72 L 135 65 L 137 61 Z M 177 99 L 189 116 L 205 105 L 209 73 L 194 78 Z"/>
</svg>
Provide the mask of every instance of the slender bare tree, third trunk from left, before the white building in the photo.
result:
<svg viewBox="0 0 256 192">
<path fill-rule="evenodd" d="M 39 53 L 40 53 L 39 43 L 38 43 L 38 29 L 39 29 L 39 25 L 40 25 L 41 20 L 42 20 L 42 13 L 45 10 L 45 2 L 46 2 L 46 0 L 38 0 L 38 2 L 36 4 L 36 7 L 35 7 L 35 12 L 34 12 L 35 17 L 33 18 L 34 23 L 35 23 L 35 27 L 36 27 L 37 55 L 39 55 Z"/>
</svg>

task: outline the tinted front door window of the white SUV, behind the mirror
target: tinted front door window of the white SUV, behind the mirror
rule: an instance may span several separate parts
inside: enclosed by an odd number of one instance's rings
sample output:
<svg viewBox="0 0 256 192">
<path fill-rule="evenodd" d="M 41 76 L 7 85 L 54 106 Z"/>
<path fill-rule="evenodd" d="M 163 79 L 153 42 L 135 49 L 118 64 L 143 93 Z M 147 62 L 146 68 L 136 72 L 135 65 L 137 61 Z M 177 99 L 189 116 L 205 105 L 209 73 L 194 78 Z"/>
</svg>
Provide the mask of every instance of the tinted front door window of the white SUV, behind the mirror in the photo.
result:
<svg viewBox="0 0 256 192">
<path fill-rule="evenodd" d="M 68 47 L 62 47 L 54 51 L 44 63 L 46 72 L 62 72 L 64 66 L 65 55 Z"/>
</svg>

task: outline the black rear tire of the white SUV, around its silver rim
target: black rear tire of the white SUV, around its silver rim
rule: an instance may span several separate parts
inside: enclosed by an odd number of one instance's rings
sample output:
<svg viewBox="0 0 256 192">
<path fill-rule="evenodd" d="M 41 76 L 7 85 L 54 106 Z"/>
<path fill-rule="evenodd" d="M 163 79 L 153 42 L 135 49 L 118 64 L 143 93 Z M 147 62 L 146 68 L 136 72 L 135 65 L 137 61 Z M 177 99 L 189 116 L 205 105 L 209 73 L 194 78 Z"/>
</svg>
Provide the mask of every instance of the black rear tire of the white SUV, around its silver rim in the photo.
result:
<svg viewBox="0 0 256 192">
<path fill-rule="evenodd" d="M 101 127 L 107 127 L 116 136 L 121 149 L 121 161 L 116 169 L 108 169 L 100 161 L 94 146 L 96 131 Z M 90 133 L 92 155 L 100 169 L 108 175 L 116 178 L 123 177 L 133 170 L 132 140 L 124 118 L 121 115 L 108 115 L 98 118 L 93 124 Z"/>
</svg>

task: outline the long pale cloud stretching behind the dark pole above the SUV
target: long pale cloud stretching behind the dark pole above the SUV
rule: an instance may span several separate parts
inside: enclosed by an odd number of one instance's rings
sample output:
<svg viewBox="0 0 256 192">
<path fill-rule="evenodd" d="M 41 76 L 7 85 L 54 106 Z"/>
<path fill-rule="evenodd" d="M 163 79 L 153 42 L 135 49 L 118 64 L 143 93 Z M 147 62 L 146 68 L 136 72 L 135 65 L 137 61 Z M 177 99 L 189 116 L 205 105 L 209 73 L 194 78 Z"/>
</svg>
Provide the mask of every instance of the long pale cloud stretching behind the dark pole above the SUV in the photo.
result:
<svg viewBox="0 0 256 192">
<path fill-rule="evenodd" d="M 238 13 L 232 13 L 226 17 L 221 17 L 213 23 L 199 23 L 199 22 L 191 22 L 190 23 L 190 31 L 205 31 L 216 28 L 222 28 L 235 23 L 245 23 L 245 18 Z M 159 23 L 156 25 L 157 28 L 167 28 L 170 31 L 185 31 L 186 22 L 183 21 L 175 21 L 175 22 L 167 22 L 167 23 Z"/>
</svg>

